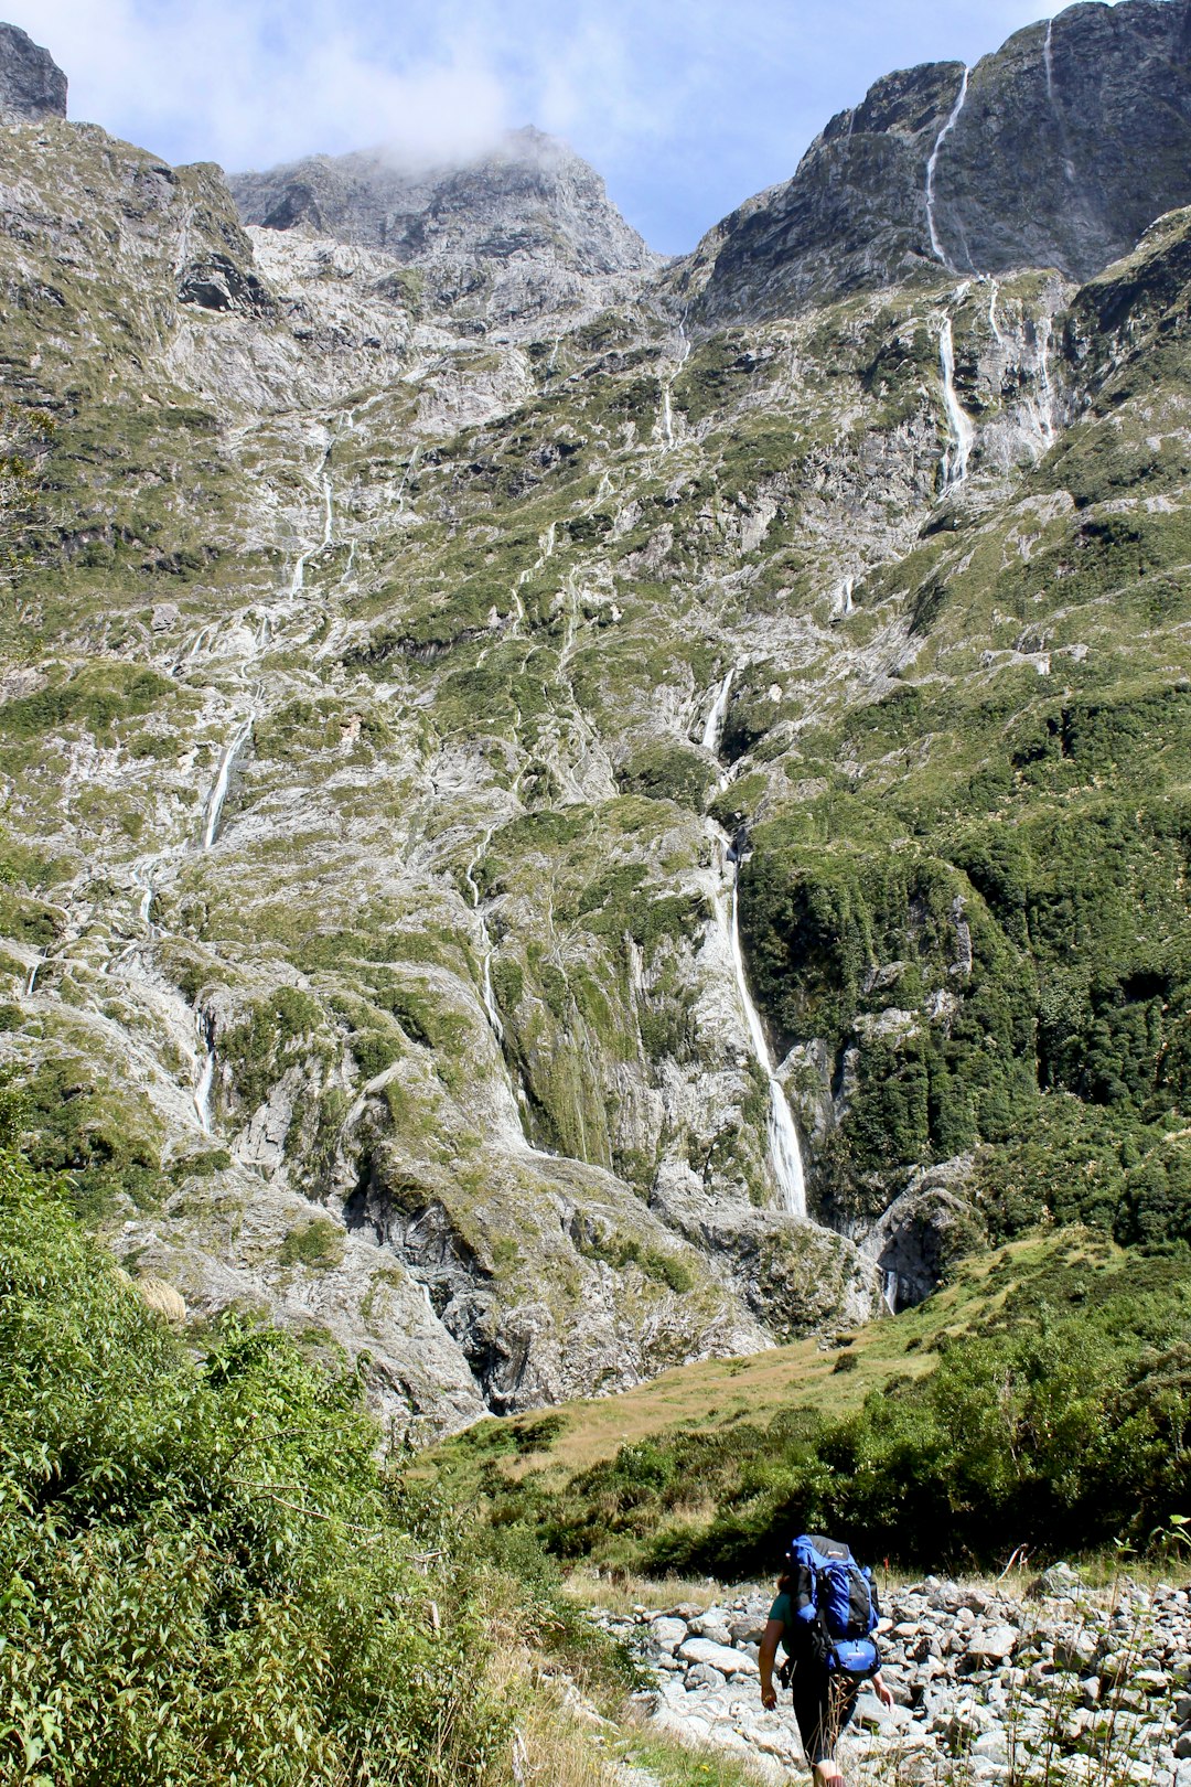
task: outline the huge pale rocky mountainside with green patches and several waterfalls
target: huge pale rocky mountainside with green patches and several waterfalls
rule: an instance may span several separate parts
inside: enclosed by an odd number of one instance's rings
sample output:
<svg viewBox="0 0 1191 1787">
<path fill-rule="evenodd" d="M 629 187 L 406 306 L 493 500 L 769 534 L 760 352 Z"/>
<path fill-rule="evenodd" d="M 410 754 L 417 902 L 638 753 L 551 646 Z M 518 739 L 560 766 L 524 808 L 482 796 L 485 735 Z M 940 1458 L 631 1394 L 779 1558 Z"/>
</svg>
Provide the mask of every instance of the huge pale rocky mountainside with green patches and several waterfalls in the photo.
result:
<svg viewBox="0 0 1191 1787">
<path fill-rule="evenodd" d="M 918 148 L 957 77 L 889 88 Z M 680 323 L 704 263 L 541 138 L 304 168 L 241 218 L 0 130 L 36 1156 L 400 1424 L 855 1321 L 986 1229 L 1177 1238 L 1187 214 L 1082 288 L 845 234 L 814 304 L 791 250 Z"/>
</svg>

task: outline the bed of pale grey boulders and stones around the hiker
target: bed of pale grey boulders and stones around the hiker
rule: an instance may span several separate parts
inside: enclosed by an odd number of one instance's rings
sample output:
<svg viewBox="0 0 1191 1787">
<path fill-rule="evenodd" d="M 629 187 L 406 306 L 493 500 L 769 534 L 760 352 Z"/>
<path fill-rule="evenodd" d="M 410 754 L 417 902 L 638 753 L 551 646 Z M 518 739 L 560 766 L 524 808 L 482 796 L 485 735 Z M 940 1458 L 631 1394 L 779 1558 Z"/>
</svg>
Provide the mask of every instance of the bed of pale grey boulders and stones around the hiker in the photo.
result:
<svg viewBox="0 0 1191 1787">
<path fill-rule="evenodd" d="M 691 1744 L 802 1771 L 793 1710 L 761 1708 L 757 1646 L 770 1607 L 746 1589 L 712 1607 L 595 1617 L 654 1676 L 648 1716 Z M 1191 1787 L 1191 1589 L 1082 1585 L 1066 1565 L 1023 1598 L 927 1576 L 884 1596 L 880 1646 L 895 1698 L 862 1692 L 841 1744 L 846 1774 L 971 1782 L 1011 1776 Z"/>
</svg>

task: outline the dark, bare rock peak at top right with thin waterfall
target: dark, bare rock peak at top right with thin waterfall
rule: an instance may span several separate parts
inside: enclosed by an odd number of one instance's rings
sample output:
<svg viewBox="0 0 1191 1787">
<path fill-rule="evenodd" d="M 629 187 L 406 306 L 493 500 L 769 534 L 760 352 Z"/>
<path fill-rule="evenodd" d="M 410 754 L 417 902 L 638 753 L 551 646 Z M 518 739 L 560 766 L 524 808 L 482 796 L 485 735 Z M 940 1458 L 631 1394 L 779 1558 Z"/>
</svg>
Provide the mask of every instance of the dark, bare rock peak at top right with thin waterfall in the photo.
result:
<svg viewBox="0 0 1191 1787">
<path fill-rule="evenodd" d="M 939 268 L 1086 281 L 1191 204 L 1191 7 L 1073 5 L 975 68 L 929 63 L 839 113 L 784 186 L 679 270 L 700 323 L 780 316 Z"/>
</svg>

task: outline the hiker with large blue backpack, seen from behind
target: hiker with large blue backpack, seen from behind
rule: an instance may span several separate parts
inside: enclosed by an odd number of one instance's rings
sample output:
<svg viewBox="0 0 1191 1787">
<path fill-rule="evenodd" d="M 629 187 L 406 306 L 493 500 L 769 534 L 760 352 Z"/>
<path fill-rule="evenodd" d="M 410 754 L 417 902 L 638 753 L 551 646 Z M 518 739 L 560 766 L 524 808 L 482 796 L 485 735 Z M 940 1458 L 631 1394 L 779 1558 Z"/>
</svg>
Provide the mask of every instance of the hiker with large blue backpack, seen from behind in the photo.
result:
<svg viewBox="0 0 1191 1787">
<path fill-rule="evenodd" d="M 761 1639 L 761 1705 L 777 1707 L 773 1660 L 779 1644 L 786 1664 L 779 1680 L 793 1689 L 802 1748 L 816 1787 L 843 1782 L 836 1762 L 836 1739 L 855 1710 L 862 1682 L 871 1682 L 884 1707 L 893 1694 L 880 1678 L 877 1590 L 868 1571 L 837 1539 L 805 1533 L 786 1553 L 777 1581 L 777 1599 Z"/>
</svg>

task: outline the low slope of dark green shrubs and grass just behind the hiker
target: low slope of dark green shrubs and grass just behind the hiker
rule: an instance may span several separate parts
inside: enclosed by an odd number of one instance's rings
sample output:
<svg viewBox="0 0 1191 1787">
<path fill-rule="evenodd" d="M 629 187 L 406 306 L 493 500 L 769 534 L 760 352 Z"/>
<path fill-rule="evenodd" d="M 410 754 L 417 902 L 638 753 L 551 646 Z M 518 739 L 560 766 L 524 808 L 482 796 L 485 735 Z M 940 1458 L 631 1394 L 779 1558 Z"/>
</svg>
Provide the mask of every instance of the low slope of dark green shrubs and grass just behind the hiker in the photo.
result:
<svg viewBox="0 0 1191 1787">
<path fill-rule="evenodd" d="M 1145 1549 L 1191 1498 L 1191 1263 L 1084 1235 L 1034 1271 L 1005 1254 L 987 1292 L 970 1328 L 930 1333 L 929 1306 L 900 1317 L 907 1355 L 929 1344 L 934 1369 L 886 1380 L 855 1410 L 795 1385 L 766 1422 L 646 1435 L 564 1485 L 541 1465 L 512 1481 L 491 1458 L 491 1517 L 568 1558 L 727 1580 L 770 1571 L 800 1528 L 934 1569 L 1000 1567 L 1020 1544 Z M 855 1362 L 845 1347 L 836 1371 Z M 521 1446 L 550 1439 L 530 1426 Z M 484 1446 L 475 1430 L 455 1458 Z"/>
</svg>

